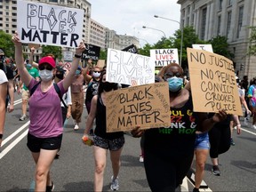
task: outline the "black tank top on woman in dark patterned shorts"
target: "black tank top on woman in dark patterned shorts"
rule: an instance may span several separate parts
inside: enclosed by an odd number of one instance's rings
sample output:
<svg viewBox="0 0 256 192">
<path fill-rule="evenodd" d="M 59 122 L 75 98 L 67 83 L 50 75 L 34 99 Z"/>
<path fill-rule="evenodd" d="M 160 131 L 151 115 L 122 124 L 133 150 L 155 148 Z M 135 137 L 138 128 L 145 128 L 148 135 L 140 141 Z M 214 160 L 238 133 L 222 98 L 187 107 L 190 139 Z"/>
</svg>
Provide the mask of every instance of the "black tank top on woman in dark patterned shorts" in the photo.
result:
<svg viewBox="0 0 256 192">
<path fill-rule="evenodd" d="M 94 134 L 107 140 L 115 140 L 124 136 L 124 132 L 107 132 L 106 106 L 103 105 L 100 96 L 97 99 L 96 128 Z"/>
</svg>

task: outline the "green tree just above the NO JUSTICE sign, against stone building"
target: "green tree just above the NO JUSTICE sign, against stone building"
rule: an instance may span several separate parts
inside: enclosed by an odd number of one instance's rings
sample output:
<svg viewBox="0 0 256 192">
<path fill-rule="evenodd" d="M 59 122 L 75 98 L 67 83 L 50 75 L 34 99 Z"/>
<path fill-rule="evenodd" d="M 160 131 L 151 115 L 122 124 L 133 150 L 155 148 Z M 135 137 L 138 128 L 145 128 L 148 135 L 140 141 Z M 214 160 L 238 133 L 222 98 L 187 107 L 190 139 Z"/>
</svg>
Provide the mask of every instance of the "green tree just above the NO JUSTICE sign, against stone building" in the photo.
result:
<svg viewBox="0 0 256 192">
<path fill-rule="evenodd" d="M 208 44 L 212 44 L 214 53 L 227 57 L 230 60 L 234 58 L 234 54 L 228 50 L 228 38 L 226 36 L 212 37 Z"/>
</svg>

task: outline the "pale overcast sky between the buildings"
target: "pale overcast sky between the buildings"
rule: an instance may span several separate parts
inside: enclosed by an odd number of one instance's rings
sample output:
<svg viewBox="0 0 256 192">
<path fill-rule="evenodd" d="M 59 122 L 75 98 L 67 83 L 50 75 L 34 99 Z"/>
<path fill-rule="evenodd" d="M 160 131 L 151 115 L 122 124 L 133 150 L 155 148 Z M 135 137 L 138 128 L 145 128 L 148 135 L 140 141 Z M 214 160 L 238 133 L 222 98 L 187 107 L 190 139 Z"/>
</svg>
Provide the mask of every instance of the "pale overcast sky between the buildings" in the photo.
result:
<svg viewBox="0 0 256 192">
<path fill-rule="evenodd" d="M 178 0 L 88 0 L 92 4 L 91 17 L 118 35 L 136 36 L 143 46 L 155 44 L 164 34 L 173 36 L 179 23 L 155 18 L 158 15 L 180 22 Z M 142 28 L 146 26 L 148 28 Z M 157 31 L 150 28 L 156 28 Z"/>
</svg>

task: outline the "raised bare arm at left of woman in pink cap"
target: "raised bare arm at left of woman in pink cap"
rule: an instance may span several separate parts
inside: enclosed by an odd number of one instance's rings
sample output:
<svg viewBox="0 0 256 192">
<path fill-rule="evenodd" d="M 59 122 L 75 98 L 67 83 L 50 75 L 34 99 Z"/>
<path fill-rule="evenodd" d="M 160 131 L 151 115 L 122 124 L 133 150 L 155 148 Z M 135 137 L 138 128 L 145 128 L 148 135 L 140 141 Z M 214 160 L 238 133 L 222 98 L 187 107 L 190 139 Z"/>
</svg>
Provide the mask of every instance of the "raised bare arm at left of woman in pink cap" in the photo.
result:
<svg viewBox="0 0 256 192">
<path fill-rule="evenodd" d="M 17 33 L 15 33 L 15 35 L 12 36 L 12 42 L 14 43 L 14 46 L 15 46 L 15 60 L 16 60 L 16 66 L 18 68 L 18 72 L 20 74 L 20 78 L 22 82 L 26 86 L 28 86 L 28 84 L 30 83 L 33 77 L 30 76 L 27 68 L 25 68 L 23 52 L 22 52 L 22 44 L 20 42 L 20 37 L 18 36 Z"/>
</svg>

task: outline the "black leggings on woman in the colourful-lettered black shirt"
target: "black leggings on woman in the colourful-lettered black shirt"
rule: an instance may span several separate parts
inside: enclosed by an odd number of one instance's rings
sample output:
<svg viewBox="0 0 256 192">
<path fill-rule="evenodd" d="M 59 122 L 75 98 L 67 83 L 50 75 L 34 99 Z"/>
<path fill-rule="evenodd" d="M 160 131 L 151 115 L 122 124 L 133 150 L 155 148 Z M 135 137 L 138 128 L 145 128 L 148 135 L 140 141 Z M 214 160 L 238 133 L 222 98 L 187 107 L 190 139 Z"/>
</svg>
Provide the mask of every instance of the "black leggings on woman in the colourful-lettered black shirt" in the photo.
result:
<svg viewBox="0 0 256 192">
<path fill-rule="evenodd" d="M 175 154 L 172 154 L 175 156 Z M 191 166 L 194 151 L 188 156 L 177 158 L 173 156 L 164 156 L 144 149 L 144 166 L 148 185 L 153 192 L 175 191 L 182 180 L 186 177 Z"/>
</svg>

